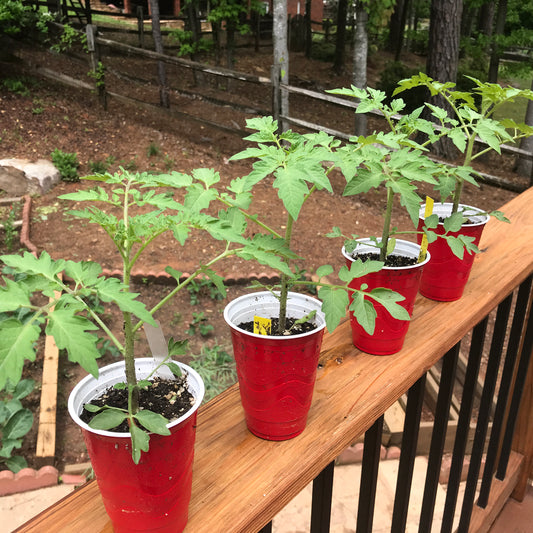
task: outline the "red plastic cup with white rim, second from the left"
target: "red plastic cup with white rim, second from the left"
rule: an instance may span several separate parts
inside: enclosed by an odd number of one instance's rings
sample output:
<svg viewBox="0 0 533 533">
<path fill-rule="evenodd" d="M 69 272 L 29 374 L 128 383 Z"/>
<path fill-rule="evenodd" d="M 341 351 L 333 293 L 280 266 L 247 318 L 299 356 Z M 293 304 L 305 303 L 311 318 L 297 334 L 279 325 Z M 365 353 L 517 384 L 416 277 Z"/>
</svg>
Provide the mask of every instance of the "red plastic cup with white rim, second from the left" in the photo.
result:
<svg viewBox="0 0 533 533">
<path fill-rule="evenodd" d="M 309 333 L 275 337 L 249 333 L 238 324 L 253 316 L 278 316 L 279 302 L 270 292 L 230 302 L 224 318 L 231 329 L 246 425 L 257 437 L 287 440 L 305 429 L 322 346 L 325 319 L 320 301 L 289 293 L 288 316 L 301 318 L 315 309 L 317 328 Z"/>
</svg>

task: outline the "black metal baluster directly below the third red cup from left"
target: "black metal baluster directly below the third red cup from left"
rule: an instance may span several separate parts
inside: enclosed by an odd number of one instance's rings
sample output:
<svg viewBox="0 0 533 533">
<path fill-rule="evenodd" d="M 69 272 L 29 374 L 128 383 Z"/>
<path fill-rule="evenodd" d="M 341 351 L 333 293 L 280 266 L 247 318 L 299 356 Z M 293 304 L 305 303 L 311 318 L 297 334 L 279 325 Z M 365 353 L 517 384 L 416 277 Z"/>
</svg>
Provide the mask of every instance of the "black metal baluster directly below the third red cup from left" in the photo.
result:
<svg viewBox="0 0 533 533">
<path fill-rule="evenodd" d="M 372 533 L 384 418 L 381 415 L 365 433 L 356 533 Z"/>
</svg>

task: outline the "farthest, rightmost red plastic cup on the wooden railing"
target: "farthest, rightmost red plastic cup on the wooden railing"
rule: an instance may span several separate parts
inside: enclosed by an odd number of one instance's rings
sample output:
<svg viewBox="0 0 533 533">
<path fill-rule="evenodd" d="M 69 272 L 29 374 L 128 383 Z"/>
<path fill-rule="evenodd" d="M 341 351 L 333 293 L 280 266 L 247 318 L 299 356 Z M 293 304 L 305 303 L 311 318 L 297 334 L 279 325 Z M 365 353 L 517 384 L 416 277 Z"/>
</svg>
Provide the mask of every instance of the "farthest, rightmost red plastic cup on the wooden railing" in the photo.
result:
<svg viewBox="0 0 533 533">
<path fill-rule="evenodd" d="M 439 217 L 446 218 L 452 212 L 451 203 L 435 204 L 433 213 Z M 457 237 L 458 235 L 466 235 L 474 237 L 474 244 L 479 245 L 481 234 L 485 224 L 489 220 L 489 216 L 483 213 L 480 209 L 468 205 L 460 205 L 459 209 L 465 211 L 465 215 L 472 219 L 472 224 L 464 224 L 459 231 L 450 232 L 450 235 Z M 424 210 L 420 210 L 420 221 L 418 229 L 421 230 L 424 226 Z M 435 233 L 442 235 L 444 233 L 444 225 L 439 224 L 434 230 Z M 422 236 L 418 236 L 419 242 Z M 445 239 L 437 238 L 429 247 L 431 253 L 431 261 L 424 267 L 422 279 L 420 280 L 420 294 L 439 302 L 451 302 L 458 300 L 463 295 L 466 283 L 470 276 L 470 271 L 474 263 L 476 254 L 464 252 L 463 259 L 459 259 L 450 249 Z"/>
</svg>

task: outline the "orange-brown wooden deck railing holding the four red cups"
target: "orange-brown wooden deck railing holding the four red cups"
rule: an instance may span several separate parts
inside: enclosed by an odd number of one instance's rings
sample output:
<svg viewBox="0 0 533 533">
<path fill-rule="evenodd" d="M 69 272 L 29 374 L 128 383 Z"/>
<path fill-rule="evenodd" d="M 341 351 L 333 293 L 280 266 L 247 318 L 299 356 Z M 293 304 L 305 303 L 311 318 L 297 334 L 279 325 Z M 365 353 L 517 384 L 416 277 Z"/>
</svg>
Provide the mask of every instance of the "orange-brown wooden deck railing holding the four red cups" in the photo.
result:
<svg viewBox="0 0 533 533">
<path fill-rule="evenodd" d="M 400 353 L 385 357 L 361 353 L 351 343 L 348 322 L 326 336 L 308 425 L 302 435 L 285 442 L 254 437 L 246 429 L 237 386 L 203 407 L 198 417 L 186 531 L 268 531 L 272 518 L 294 496 L 322 471 L 328 472 L 347 446 L 374 428 L 398 398 L 528 280 L 533 271 L 532 204 L 533 189 L 529 189 L 502 208 L 511 225 L 493 220 L 488 223 L 461 300 L 437 303 L 418 298 Z M 523 337 L 523 333 L 519 335 Z M 525 398 L 531 403 L 531 381 Z M 492 483 L 487 507 L 474 509 L 470 531 L 486 531 L 511 492 L 516 489 L 518 496 L 523 492 L 533 464 L 532 439 L 527 433 L 531 432 L 527 424 L 530 409 L 526 406 L 517 421 L 513 446 L 520 453 L 511 453 L 505 479 Z M 90 482 L 18 531 L 110 532 L 112 527 L 98 487 Z M 312 531 L 327 529 L 317 526 Z M 371 531 L 371 520 L 366 527 L 358 523 L 357 531 Z"/>
</svg>

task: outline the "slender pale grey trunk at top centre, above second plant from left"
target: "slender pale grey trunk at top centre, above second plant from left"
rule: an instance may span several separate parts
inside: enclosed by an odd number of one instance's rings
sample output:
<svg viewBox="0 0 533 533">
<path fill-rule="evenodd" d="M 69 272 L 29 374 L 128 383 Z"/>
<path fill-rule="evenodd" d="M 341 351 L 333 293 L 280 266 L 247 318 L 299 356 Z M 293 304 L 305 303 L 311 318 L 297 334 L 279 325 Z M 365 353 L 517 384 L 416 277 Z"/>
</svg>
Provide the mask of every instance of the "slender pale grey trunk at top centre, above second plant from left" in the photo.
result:
<svg viewBox="0 0 533 533">
<path fill-rule="evenodd" d="M 274 0 L 274 68 L 273 75 L 281 83 L 289 83 L 289 48 L 287 45 L 287 2 Z M 275 84 L 276 85 L 276 84 Z M 289 93 L 280 90 L 279 95 L 274 95 L 274 101 L 279 103 L 279 109 L 274 110 L 275 116 L 289 116 Z M 277 111 L 277 113 L 276 113 Z M 288 123 L 281 119 L 279 124 L 282 131 L 288 129 Z"/>
</svg>

